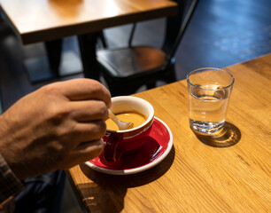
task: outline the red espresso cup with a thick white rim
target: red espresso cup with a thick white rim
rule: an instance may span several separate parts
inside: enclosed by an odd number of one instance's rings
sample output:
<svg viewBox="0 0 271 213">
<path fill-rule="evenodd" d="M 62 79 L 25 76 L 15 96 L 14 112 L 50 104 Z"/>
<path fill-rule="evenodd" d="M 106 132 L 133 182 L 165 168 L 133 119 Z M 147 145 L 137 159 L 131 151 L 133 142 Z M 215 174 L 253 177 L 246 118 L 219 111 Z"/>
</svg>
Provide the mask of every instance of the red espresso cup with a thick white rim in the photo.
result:
<svg viewBox="0 0 271 213">
<path fill-rule="evenodd" d="M 135 112 L 143 114 L 146 121 L 129 130 L 106 130 L 104 142 L 104 157 L 107 162 L 119 162 L 123 154 L 136 152 L 149 135 L 154 119 L 154 109 L 151 104 L 140 98 L 132 96 L 119 96 L 112 98 L 111 111 L 113 114 Z"/>
</svg>

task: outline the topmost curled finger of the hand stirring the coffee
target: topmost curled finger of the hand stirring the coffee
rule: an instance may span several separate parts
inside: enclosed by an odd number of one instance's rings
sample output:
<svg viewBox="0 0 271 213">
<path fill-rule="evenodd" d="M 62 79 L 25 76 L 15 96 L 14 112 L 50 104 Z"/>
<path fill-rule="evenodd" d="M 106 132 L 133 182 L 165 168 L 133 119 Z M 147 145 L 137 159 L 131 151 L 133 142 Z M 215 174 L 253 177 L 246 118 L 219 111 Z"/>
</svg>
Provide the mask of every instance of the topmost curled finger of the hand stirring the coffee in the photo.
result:
<svg viewBox="0 0 271 213">
<path fill-rule="evenodd" d="M 61 93 L 70 100 L 97 99 L 105 102 L 107 107 L 111 106 L 111 94 L 105 86 L 95 80 L 81 78 L 55 85 Z"/>
</svg>

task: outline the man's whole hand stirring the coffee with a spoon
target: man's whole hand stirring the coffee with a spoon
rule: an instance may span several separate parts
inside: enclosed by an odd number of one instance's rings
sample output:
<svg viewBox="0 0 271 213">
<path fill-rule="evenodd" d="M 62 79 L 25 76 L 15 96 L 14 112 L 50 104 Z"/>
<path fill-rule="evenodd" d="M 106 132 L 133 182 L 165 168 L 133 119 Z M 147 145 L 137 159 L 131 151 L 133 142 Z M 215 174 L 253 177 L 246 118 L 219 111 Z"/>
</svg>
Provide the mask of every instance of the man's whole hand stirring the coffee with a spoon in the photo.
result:
<svg viewBox="0 0 271 213">
<path fill-rule="evenodd" d="M 0 116 L 0 153 L 20 179 L 86 162 L 103 151 L 110 106 L 94 80 L 48 84 Z"/>
</svg>

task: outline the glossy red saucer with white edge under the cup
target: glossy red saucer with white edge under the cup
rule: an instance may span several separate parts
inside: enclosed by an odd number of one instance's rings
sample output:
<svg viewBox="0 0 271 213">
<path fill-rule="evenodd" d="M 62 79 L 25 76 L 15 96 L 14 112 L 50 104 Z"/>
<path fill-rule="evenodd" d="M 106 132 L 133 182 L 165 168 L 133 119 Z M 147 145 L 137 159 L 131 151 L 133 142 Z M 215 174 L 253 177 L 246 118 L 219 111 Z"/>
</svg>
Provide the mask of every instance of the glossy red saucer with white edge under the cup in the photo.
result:
<svg viewBox="0 0 271 213">
<path fill-rule="evenodd" d="M 128 175 L 148 170 L 165 159 L 173 146 L 172 132 L 165 122 L 155 117 L 150 135 L 135 154 L 122 155 L 120 162 L 106 162 L 104 154 L 85 162 L 93 170 L 112 175 Z"/>
</svg>

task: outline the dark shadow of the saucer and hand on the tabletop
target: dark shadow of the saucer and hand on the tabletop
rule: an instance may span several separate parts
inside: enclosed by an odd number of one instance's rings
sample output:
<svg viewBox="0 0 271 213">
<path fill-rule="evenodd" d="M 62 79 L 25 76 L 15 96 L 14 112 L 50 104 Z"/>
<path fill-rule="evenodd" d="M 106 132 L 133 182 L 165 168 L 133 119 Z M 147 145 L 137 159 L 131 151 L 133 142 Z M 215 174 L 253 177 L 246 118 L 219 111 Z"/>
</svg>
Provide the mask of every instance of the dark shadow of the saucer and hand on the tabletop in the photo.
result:
<svg viewBox="0 0 271 213">
<path fill-rule="evenodd" d="M 86 199 L 85 206 L 93 212 L 120 212 L 124 207 L 124 197 L 128 188 L 146 185 L 163 176 L 174 162 L 174 146 L 164 161 L 150 170 L 132 175 L 108 175 L 81 165 L 81 171 L 93 181 L 91 184 L 77 185 Z"/>
</svg>

